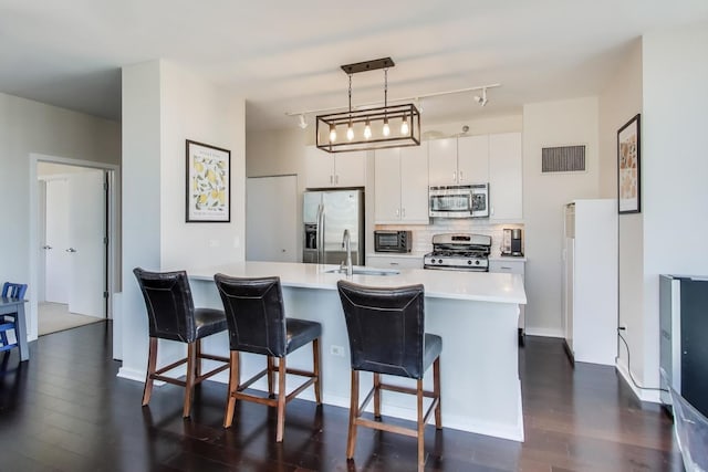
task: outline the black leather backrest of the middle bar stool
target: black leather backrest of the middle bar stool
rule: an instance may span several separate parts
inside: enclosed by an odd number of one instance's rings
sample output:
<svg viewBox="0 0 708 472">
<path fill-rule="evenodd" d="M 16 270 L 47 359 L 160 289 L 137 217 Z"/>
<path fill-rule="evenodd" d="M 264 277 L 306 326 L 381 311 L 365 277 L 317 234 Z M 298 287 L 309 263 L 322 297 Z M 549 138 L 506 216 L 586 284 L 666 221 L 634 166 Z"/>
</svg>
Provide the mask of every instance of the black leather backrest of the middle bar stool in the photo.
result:
<svg viewBox="0 0 708 472">
<path fill-rule="evenodd" d="M 280 277 L 214 276 L 223 302 L 231 350 L 283 357 L 285 312 Z"/>
</svg>

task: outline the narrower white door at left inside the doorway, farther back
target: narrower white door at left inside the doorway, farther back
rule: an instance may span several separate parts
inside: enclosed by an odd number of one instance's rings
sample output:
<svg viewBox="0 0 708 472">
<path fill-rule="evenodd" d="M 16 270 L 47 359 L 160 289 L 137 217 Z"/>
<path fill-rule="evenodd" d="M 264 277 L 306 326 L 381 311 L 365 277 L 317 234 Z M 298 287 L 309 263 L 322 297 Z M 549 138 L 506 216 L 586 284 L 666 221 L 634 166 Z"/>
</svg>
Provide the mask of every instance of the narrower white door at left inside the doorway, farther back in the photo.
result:
<svg viewBox="0 0 708 472">
<path fill-rule="evenodd" d="M 69 303 L 69 183 L 66 179 L 46 181 L 46 238 L 44 253 L 45 300 Z"/>
</svg>

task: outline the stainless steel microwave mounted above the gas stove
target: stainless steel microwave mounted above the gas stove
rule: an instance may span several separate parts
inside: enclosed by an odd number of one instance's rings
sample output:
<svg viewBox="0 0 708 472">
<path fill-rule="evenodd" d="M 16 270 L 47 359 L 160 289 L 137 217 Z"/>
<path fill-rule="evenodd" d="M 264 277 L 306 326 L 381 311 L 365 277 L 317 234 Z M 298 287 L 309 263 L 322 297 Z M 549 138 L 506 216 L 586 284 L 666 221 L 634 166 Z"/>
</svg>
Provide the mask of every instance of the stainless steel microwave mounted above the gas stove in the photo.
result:
<svg viewBox="0 0 708 472">
<path fill-rule="evenodd" d="M 489 183 L 430 187 L 433 218 L 488 218 Z"/>
</svg>

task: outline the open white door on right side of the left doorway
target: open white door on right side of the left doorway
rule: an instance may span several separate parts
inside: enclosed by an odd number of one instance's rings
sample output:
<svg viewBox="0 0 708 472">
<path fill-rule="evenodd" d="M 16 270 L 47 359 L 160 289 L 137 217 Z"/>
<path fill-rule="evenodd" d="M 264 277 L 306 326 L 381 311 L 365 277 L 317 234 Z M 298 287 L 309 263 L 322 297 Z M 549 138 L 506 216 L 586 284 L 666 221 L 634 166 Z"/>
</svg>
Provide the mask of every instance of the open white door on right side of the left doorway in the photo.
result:
<svg viewBox="0 0 708 472">
<path fill-rule="evenodd" d="M 69 245 L 71 258 L 69 311 L 105 317 L 106 198 L 104 171 L 74 174 L 69 190 Z"/>
</svg>

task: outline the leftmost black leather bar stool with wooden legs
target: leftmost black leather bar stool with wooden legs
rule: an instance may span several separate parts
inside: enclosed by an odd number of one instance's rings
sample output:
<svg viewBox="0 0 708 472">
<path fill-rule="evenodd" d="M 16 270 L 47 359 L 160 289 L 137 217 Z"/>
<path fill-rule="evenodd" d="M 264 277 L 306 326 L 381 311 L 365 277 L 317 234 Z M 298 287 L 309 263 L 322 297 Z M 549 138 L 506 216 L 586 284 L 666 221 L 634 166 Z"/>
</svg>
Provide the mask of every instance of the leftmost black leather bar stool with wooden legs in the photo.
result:
<svg viewBox="0 0 708 472">
<path fill-rule="evenodd" d="M 220 310 L 195 308 L 187 272 L 148 272 L 140 268 L 133 270 L 145 297 L 145 306 L 149 318 L 149 356 L 143 406 L 150 401 L 153 380 L 185 387 L 185 405 L 183 417 L 191 412 L 191 395 L 194 386 L 207 378 L 229 368 L 227 357 L 214 356 L 201 352 L 201 339 L 226 331 L 226 316 Z M 157 339 L 187 343 L 187 357 L 168 366 L 156 368 Z M 201 374 L 201 359 L 218 360 L 223 365 Z M 187 363 L 186 380 L 168 377 L 164 374 Z"/>
</svg>

